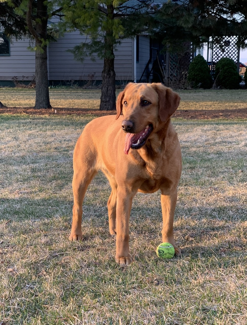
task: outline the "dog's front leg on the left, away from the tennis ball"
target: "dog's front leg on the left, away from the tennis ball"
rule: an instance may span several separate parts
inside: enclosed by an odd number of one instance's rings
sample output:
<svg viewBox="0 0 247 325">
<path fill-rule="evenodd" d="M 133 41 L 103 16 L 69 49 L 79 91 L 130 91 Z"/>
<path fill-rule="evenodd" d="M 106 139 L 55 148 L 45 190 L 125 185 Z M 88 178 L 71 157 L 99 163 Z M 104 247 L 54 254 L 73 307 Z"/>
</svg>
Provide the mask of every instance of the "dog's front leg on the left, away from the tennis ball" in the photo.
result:
<svg viewBox="0 0 247 325">
<path fill-rule="evenodd" d="M 128 265 L 133 261 L 129 253 L 129 219 L 133 197 L 125 189 L 117 188 L 115 261 L 120 265 Z"/>
</svg>

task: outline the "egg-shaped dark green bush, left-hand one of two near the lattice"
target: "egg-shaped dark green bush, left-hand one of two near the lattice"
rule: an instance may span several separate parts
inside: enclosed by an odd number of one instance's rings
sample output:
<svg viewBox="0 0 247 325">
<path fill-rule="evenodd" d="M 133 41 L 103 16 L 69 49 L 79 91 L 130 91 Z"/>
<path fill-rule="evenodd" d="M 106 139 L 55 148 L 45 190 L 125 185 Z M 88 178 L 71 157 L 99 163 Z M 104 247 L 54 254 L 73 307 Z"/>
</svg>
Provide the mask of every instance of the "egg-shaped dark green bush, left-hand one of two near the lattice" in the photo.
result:
<svg viewBox="0 0 247 325">
<path fill-rule="evenodd" d="M 206 60 L 202 55 L 194 57 L 189 65 L 188 81 L 193 88 L 209 89 L 212 87 L 212 77 Z"/>
</svg>

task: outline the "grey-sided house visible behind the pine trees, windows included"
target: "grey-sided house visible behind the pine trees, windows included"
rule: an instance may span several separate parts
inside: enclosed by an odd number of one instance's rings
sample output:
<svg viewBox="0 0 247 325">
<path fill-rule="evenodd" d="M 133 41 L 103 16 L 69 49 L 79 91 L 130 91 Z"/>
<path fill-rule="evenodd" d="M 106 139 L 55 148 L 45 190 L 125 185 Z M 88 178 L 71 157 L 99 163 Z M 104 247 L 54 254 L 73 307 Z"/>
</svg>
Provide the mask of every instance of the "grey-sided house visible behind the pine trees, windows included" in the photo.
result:
<svg viewBox="0 0 247 325">
<path fill-rule="evenodd" d="M 103 60 L 95 57 L 95 61 L 85 57 L 83 62 L 74 59 L 72 50 L 75 45 L 86 40 L 86 35 L 79 32 L 68 32 L 57 42 L 49 44 L 47 49 L 48 79 L 50 85 L 71 82 L 100 83 Z M 29 38 L 8 40 L 0 33 L 0 86 L 14 85 L 13 81 L 30 82 L 35 76 L 35 52 L 28 49 L 32 46 Z M 123 39 L 117 46 L 115 55 L 116 82 L 147 81 L 146 65 L 150 59 L 150 39 L 140 35 L 133 39 Z M 144 72 L 145 71 L 145 72 Z M 144 73 L 143 73 L 144 72 Z"/>
</svg>

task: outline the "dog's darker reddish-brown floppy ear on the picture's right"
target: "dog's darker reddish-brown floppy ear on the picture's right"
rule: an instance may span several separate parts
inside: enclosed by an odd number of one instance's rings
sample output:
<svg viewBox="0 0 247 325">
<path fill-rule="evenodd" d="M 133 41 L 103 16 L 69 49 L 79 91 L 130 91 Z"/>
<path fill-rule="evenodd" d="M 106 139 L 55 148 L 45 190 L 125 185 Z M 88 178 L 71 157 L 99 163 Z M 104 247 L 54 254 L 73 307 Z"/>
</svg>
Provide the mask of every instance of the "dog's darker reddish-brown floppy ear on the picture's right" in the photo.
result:
<svg viewBox="0 0 247 325">
<path fill-rule="evenodd" d="M 180 96 L 162 84 L 154 84 L 159 95 L 159 117 L 162 122 L 166 122 L 175 112 L 180 103 Z"/>
</svg>

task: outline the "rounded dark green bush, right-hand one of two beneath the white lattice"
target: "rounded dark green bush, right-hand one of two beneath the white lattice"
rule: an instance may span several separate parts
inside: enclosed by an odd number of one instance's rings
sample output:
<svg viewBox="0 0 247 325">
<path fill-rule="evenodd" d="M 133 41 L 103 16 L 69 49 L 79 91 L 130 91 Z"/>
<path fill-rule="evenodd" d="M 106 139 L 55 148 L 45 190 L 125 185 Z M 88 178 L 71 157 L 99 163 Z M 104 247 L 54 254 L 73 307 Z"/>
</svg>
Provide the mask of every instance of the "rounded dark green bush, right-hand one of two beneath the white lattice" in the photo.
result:
<svg viewBox="0 0 247 325">
<path fill-rule="evenodd" d="M 217 86 L 226 89 L 238 89 L 241 76 L 237 72 L 236 64 L 232 59 L 222 58 L 215 66 L 215 81 Z"/>
</svg>

